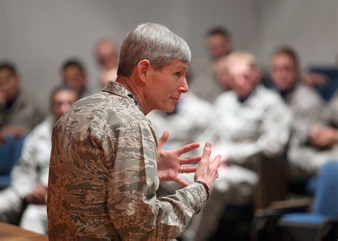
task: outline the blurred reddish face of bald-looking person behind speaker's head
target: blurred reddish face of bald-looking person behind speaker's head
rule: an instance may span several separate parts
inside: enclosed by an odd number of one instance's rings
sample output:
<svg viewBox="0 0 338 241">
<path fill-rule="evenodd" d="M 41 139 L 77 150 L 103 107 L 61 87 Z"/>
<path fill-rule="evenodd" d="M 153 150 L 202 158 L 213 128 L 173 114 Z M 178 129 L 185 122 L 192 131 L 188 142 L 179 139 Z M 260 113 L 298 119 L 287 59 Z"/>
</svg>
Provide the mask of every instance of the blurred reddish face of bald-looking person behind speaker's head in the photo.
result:
<svg viewBox="0 0 338 241">
<path fill-rule="evenodd" d="M 96 58 L 101 68 L 111 69 L 118 66 L 118 53 L 111 41 L 103 41 L 96 46 Z"/>
</svg>

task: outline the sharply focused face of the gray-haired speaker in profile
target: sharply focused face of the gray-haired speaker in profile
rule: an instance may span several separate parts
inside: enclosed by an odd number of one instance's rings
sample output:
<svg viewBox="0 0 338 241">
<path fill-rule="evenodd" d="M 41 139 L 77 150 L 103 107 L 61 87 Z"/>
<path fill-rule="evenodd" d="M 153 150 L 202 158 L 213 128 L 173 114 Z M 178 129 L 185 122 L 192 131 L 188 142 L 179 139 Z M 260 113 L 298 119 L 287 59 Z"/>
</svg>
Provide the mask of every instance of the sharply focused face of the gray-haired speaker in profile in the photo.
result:
<svg viewBox="0 0 338 241">
<path fill-rule="evenodd" d="M 180 95 L 188 91 L 185 74 L 188 64 L 180 61 L 172 61 L 160 71 L 152 67 L 149 71 L 145 99 L 150 110 L 172 112 Z"/>
</svg>

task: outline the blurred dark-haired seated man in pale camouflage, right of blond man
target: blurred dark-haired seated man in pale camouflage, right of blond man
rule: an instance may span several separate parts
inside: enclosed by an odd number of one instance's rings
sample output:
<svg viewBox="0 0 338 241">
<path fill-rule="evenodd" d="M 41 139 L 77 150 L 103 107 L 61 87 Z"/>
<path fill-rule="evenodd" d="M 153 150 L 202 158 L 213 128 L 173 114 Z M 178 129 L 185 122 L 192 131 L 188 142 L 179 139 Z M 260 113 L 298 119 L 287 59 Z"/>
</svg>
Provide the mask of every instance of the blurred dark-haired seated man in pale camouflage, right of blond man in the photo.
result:
<svg viewBox="0 0 338 241">
<path fill-rule="evenodd" d="M 296 182 L 307 180 L 324 161 L 316 160 L 316 149 L 327 148 L 316 138 L 318 133 L 322 135 L 323 128 L 314 125 L 317 122 L 326 122 L 327 117 L 323 113 L 324 101 L 314 89 L 301 81 L 298 57 L 290 47 L 280 47 L 273 53 L 271 76 L 273 89 L 282 96 L 293 116 L 292 138 L 287 155 L 291 178 Z M 320 146 L 321 144 L 323 146 Z"/>
</svg>

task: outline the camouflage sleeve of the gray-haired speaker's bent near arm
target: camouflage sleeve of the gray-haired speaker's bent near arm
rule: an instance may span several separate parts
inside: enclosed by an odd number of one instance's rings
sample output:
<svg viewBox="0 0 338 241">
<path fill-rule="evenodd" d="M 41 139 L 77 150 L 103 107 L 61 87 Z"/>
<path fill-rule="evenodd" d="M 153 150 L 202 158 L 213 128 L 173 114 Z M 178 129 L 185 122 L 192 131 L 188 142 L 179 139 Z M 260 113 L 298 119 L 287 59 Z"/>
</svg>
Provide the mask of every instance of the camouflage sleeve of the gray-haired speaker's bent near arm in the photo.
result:
<svg viewBox="0 0 338 241">
<path fill-rule="evenodd" d="M 194 183 L 175 195 L 156 198 L 157 148 L 149 124 L 135 120 L 118 128 L 116 138 L 108 180 L 108 212 L 118 234 L 123 240 L 178 237 L 205 205 L 205 190 Z"/>
</svg>

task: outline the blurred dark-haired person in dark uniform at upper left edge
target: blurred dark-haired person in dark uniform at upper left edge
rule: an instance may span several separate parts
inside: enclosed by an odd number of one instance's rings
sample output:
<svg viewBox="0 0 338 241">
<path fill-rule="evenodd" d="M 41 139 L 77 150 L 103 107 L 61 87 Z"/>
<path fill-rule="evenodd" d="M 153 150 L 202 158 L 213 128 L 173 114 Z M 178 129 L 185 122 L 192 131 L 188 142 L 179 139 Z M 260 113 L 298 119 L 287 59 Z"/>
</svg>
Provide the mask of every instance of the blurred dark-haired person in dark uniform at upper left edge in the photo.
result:
<svg viewBox="0 0 338 241">
<path fill-rule="evenodd" d="M 19 136 L 43 120 L 46 110 L 21 88 L 21 78 L 12 63 L 0 63 L 0 136 Z"/>
</svg>

